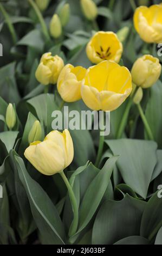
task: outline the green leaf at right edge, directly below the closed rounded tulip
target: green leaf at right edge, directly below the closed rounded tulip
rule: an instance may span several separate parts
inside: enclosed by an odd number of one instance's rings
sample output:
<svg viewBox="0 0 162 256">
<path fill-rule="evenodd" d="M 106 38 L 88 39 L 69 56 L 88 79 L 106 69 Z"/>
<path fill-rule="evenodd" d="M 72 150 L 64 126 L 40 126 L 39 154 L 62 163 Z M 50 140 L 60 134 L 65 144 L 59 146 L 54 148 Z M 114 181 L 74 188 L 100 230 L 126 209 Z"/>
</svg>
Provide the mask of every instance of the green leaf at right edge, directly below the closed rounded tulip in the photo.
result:
<svg viewBox="0 0 162 256">
<path fill-rule="evenodd" d="M 146 106 L 146 119 L 150 125 L 151 131 L 155 141 L 158 143 L 160 149 L 162 149 L 162 136 L 161 136 L 161 127 L 162 127 L 162 83 L 160 80 L 150 88 L 150 99 L 147 102 Z"/>
</svg>

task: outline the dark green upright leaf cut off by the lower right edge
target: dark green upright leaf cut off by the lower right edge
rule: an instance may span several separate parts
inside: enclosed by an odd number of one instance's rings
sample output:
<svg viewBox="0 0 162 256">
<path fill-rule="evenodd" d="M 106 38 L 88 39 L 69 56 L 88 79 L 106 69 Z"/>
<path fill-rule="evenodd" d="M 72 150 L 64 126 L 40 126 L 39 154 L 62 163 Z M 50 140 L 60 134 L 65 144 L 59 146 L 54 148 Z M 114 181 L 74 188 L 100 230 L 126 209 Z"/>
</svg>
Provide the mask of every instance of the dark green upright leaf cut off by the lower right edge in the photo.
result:
<svg viewBox="0 0 162 256">
<path fill-rule="evenodd" d="M 152 241 L 162 226 L 162 200 L 159 191 L 154 193 L 147 202 L 144 214 L 142 215 L 140 235 Z"/>
</svg>

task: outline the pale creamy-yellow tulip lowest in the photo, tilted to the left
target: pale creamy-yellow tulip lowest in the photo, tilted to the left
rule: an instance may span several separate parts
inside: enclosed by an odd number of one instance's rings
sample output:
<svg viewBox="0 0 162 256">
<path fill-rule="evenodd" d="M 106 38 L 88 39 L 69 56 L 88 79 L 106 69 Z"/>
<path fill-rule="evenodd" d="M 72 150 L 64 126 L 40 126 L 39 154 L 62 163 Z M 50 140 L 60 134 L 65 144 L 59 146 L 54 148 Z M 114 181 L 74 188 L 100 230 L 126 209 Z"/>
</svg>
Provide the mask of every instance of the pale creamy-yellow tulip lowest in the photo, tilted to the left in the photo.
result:
<svg viewBox="0 0 162 256">
<path fill-rule="evenodd" d="M 31 143 L 24 156 L 41 173 L 53 175 L 61 172 L 73 161 L 74 148 L 68 130 L 51 131 L 44 141 Z"/>
</svg>

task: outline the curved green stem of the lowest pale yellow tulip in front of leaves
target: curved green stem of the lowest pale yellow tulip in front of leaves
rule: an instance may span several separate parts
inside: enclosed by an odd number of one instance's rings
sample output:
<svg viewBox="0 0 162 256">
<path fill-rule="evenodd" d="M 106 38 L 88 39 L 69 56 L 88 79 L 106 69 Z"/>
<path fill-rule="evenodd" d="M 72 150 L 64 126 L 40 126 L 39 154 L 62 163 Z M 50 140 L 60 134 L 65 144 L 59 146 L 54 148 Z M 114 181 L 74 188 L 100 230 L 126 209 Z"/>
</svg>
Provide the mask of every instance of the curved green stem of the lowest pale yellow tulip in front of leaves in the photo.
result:
<svg viewBox="0 0 162 256">
<path fill-rule="evenodd" d="M 76 230 L 77 230 L 78 219 L 79 219 L 78 205 L 77 205 L 77 201 L 76 201 L 73 189 L 70 186 L 69 181 L 68 181 L 66 175 L 64 174 L 63 170 L 62 170 L 62 172 L 60 172 L 60 175 L 61 175 L 64 183 L 67 186 L 67 189 L 68 189 L 68 192 L 69 192 L 70 201 L 72 203 L 73 214 L 74 214 L 73 222 L 72 222 L 72 225 L 71 225 L 70 230 L 69 230 L 69 237 L 70 237 L 70 236 L 73 236 L 76 233 Z"/>
</svg>

